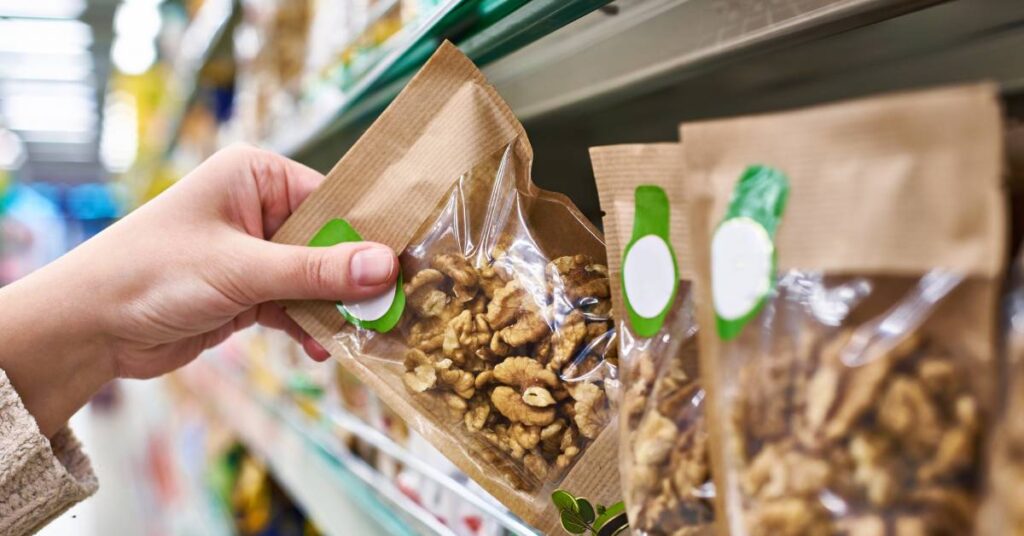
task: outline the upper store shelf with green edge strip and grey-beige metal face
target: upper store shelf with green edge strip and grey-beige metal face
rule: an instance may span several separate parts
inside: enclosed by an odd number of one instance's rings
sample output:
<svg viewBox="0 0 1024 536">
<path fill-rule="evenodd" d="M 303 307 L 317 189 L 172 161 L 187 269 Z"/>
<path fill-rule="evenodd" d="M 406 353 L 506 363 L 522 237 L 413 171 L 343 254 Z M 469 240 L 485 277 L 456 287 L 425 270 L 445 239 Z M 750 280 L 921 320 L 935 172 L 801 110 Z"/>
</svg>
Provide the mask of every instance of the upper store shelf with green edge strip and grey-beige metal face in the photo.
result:
<svg viewBox="0 0 1024 536">
<path fill-rule="evenodd" d="M 452 37 L 528 121 L 608 95 L 649 91 L 744 50 L 840 33 L 937 1 L 618 0 L 596 10 L 607 2 L 535 0 L 478 32 Z M 437 42 L 425 44 L 433 50 Z M 394 55 L 415 56 L 423 47 L 410 43 Z M 313 112 L 318 121 L 286 128 L 290 142 L 268 145 L 305 161 L 330 147 L 336 160 L 411 76 L 411 70 L 388 76 L 382 66 L 360 93 Z"/>
</svg>

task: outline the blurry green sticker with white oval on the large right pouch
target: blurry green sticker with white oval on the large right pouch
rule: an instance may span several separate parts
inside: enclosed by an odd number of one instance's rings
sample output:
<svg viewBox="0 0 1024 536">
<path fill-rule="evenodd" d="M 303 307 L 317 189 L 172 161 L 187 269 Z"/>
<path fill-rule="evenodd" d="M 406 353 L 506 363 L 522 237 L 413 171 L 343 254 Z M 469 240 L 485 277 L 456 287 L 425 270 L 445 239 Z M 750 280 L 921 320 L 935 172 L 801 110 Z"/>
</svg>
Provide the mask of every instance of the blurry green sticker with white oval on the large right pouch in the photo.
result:
<svg viewBox="0 0 1024 536">
<path fill-rule="evenodd" d="M 775 285 L 775 231 L 790 195 L 785 175 L 751 166 L 736 181 L 711 242 L 712 302 L 718 335 L 736 338 Z"/>
</svg>

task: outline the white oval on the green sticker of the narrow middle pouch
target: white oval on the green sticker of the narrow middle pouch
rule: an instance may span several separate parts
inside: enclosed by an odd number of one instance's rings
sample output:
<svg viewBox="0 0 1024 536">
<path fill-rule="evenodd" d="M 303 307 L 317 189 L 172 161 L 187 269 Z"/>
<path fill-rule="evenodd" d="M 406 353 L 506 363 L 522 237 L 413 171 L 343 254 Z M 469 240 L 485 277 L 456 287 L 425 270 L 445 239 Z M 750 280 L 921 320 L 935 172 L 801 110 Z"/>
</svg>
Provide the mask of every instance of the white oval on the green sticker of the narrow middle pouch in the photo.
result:
<svg viewBox="0 0 1024 536">
<path fill-rule="evenodd" d="M 623 262 L 623 289 L 633 311 L 643 318 L 658 316 L 675 285 L 676 266 L 665 239 L 647 235 L 634 242 Z"/>
</svg>

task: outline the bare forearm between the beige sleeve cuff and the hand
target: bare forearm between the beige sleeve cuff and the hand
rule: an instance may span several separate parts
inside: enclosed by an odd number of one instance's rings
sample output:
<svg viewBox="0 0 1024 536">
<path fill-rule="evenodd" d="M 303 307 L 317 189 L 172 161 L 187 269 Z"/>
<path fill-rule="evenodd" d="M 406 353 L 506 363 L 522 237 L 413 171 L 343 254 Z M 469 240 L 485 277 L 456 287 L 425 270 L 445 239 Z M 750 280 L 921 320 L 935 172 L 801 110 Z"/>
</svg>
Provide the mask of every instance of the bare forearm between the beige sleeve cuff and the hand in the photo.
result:
<svg viewBox="0 0 1024 536">
<path fill-rule="evenodd" d="M 0 369 L 46 437 L 116 372 L 110 343 L 92 325 L 104 305 L 85 302 L 88 293 L 60 264 L 0 289 Z"/>
</svg>

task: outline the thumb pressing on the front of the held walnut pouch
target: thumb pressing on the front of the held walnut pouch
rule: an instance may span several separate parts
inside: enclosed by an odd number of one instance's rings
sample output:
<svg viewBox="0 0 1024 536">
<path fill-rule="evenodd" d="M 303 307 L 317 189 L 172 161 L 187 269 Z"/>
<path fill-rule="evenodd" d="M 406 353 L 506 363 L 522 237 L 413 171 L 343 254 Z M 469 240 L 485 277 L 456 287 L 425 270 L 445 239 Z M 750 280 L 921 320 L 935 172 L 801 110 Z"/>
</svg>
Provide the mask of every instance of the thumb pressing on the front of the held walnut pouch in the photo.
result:
<svg viewBox="0 0 1024 536">
<path fill-rule="evenodd" d="M 398 259 L 387 246 L 351 242 L 327 248 L 254 239 L 255 261 L 244 278 L 256 303 L 279 299 L 346 301 L 376 296 L 394 284 Z"/>
</svg>

